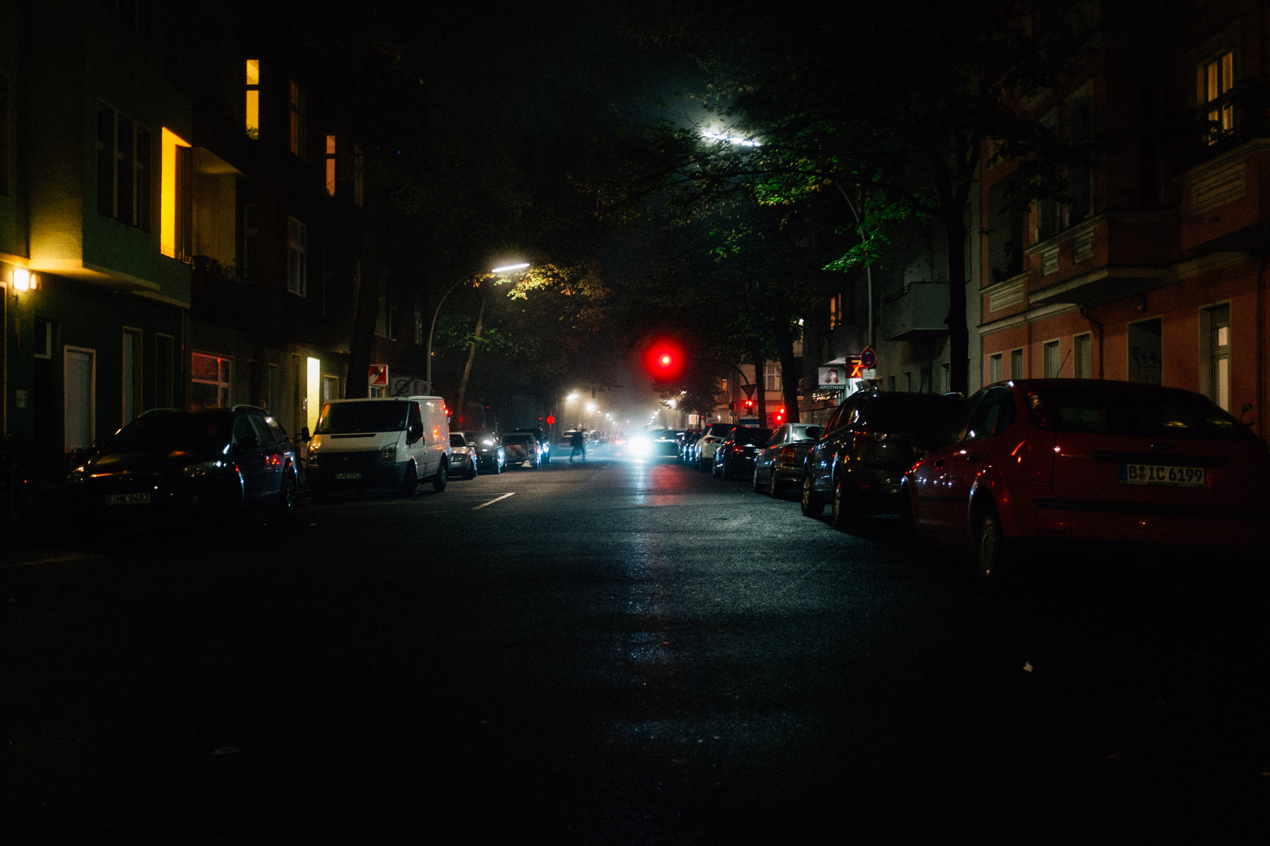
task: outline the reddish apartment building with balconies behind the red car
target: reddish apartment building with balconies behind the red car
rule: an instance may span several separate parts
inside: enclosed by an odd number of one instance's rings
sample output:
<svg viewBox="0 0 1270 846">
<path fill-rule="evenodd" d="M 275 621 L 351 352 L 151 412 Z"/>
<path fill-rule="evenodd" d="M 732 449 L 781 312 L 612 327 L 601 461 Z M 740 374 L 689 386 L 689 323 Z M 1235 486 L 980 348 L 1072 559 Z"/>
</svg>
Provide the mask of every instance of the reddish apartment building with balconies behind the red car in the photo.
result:
<svg viewBox="0 0 1270 846">
<path fill-rule="evenodd" d="M 1025 104 L 1088 142 L 1063 202 L 983 174 L 983 381 L 1120 379 L 1208 395 L 1265 437 L 1266 5 L 1102 4 L 1097 50 Z"/>
</svg>

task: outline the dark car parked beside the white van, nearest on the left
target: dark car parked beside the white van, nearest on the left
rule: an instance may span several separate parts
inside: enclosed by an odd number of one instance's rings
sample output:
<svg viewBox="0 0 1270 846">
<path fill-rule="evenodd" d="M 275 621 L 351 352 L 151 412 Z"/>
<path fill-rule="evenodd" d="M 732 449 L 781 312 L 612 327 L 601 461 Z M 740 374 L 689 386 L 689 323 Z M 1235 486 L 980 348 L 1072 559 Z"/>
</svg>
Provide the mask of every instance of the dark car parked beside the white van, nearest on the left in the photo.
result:
<svg viewBox="0 0 1270 846">
<path fill-rule="evenodd" d="M 67 480 L 83 534 L 102 523 L 174 517 L 291 517 L 296 453 L 264 409 L 146 412 L 94 447 Z"/>
</svg>

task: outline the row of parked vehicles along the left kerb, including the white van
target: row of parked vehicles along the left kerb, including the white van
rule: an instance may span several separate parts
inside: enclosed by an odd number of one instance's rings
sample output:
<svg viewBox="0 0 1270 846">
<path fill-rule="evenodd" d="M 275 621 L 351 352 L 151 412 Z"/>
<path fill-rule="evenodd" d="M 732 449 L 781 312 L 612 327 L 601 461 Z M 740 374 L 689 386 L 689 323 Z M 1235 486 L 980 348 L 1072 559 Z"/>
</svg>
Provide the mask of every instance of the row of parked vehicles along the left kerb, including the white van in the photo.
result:
<svg viewBox="0 0 1270 846">
<path fill-rule="evenodd" d="M 307 459 L 300 459 L 307 443 Z M 450 432 L 437 396 L 330 400 L 310 437 L 291 438 L 263 408 L 152 409 L 76 456 L 67 513 L 81 536 L 105 526 L 229 520 L 286 520 L 301 480 L 314 498 L 340 490 L 436 492 L 508 464 L 537 467 L 550 446 L 533 429 Z"/>
</svg>

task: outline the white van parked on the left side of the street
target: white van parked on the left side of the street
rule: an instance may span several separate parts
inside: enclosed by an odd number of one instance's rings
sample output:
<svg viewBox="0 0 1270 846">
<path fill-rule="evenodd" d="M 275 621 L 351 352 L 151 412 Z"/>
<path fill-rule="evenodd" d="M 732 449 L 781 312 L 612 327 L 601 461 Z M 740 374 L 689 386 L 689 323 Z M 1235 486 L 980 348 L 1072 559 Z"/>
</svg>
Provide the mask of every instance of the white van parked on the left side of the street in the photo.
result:
<svg viewBox="0 0 1270 846">
<path fill-rule="evenodd" d="M 305 462 L 315 497 L 348 488 L 410 494 L 420 481 L 439 493 L 448 473 L 450 422 L 439 396 L 331 400 L 323 405 Z"/>
</svg>

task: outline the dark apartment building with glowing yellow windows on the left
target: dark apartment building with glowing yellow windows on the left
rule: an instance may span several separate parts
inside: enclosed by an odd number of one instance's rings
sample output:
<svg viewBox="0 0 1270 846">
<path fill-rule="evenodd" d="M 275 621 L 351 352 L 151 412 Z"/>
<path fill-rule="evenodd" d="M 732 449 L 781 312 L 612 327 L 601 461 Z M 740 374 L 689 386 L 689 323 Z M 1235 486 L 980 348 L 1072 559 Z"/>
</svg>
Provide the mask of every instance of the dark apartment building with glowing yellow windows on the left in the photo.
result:
<svg viewBox="0 0 1270 846">
<path fill-rule="evenodd" d="M 367 222 L 366 75 L 301 34 L 320 22 L 220 0 L 0 20 L 4 433 L 47 478 L 151 408 L 250 403 L 296 433 L 351 379 L 419 393 L 423 297 Z"/>
</svg>

